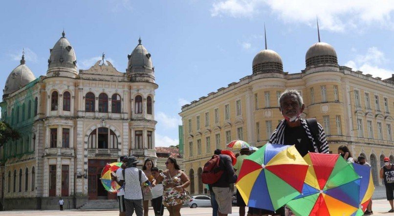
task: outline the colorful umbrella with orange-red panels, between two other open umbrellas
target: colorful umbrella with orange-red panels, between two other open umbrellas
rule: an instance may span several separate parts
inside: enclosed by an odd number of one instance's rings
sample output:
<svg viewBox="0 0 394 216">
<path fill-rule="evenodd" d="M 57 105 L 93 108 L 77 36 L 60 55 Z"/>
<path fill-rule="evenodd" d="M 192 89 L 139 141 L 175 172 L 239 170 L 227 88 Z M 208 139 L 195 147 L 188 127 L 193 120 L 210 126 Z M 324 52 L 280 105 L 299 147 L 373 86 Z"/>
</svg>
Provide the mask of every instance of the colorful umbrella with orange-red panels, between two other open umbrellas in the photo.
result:
<svg viewBox="0 0 394 216">
<path fill-rule="evenodd" d="M 308 153 L 303 192 L 287 203 L 296 215 L 349 216 L 359 207 L 360 177 L 337 154 Z"/>
</svg>

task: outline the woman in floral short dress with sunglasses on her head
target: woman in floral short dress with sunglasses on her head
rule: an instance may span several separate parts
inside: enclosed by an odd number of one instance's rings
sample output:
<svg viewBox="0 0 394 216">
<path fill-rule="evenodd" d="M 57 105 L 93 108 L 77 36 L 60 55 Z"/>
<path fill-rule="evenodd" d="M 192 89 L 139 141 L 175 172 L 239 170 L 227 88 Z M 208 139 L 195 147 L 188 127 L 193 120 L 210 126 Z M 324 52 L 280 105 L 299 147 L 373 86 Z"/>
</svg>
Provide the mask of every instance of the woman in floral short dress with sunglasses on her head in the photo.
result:
<svg viewBox="0 0 394 216">
<path fill-rule="evenodd" d="M 189 177 L 179 169 L 176 159 L 169 157 L 166 161 L 166 168 L 157 182 L 163 182 L 163 204 L 170 212 L 170 216 L 180 216 L 180 208 L 187 196 L 185 188 L 190 185 Z"/>
</svg>

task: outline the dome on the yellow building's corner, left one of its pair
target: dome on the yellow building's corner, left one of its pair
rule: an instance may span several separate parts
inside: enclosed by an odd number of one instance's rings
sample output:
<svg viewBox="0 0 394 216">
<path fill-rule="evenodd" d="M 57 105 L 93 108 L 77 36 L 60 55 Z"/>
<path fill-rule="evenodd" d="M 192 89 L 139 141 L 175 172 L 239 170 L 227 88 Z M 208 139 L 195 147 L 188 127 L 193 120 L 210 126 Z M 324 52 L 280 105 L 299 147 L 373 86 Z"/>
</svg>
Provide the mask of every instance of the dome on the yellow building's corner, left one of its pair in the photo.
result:
<svg viewBox="0 0 394 216">
<path fill-rule="evenodd" d="M 262 50 L 253 59 L 253 74 L 282 73 L 283 63 L 278 53 L 273 50 Z"/>
</svg>

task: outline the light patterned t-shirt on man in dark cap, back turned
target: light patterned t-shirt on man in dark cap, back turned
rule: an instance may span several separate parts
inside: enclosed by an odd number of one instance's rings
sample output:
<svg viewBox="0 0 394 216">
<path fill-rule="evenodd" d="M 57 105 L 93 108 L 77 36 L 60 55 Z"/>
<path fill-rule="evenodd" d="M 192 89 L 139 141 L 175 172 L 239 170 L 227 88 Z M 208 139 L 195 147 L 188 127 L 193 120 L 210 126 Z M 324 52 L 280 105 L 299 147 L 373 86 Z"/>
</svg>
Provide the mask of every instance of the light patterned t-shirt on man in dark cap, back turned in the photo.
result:
<svg viewBox="0 0 394 216">
<path fill-rule="evenodd" d="M 120 175 L 123 180 L 123 175 Z M 125 169 L 125 199 L 142 199 L 141 183 L 139 181 L 138 169 L 129 167 Z M 147 181 L 145 173 L 141 171 L 141 182 Z"/>
</svg>

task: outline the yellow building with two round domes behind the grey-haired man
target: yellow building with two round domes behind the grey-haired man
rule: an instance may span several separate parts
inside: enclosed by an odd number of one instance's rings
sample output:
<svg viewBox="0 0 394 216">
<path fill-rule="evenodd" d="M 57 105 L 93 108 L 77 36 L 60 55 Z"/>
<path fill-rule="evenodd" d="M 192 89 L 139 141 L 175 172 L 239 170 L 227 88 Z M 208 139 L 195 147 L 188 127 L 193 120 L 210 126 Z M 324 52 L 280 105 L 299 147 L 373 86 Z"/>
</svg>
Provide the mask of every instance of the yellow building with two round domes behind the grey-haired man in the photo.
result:
<svg viewBox="0 0 394 216">
<path fill-rule="evenodd" d="M 185 171 L 191 194 L 202 194 L 200 174 L 215 149 L 235 139 L 264 145 L 282 120 L 278 98 L 286 89 L 304 98 L 302 118 L 317 118 L 325 129 L 330 152 L 347 145 L 357 158 L 363 155 L 378 178 L 383 158 L 394 160 L 394 82 L 339 66 L 334 48 L 317 42 L 306 52 L 301 73 L 283 71 L 281 57 L 262 50 L 253 59 L 252 75 L 219 88 L 190 104 L 179 114 L 184 128 Z"/>
</svg>

